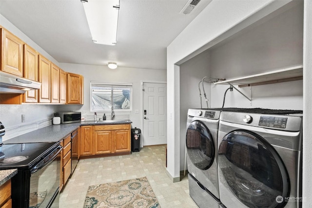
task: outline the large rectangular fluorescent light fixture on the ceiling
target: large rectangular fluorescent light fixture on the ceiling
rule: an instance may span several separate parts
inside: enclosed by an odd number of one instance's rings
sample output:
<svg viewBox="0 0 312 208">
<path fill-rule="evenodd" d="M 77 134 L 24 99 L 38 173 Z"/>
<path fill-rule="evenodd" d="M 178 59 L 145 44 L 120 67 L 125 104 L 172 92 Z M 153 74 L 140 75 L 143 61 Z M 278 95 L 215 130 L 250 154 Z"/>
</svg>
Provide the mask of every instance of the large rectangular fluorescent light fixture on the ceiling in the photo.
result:
<svg viewBox="0 0 312 208">
<path fill-rule="evenodd" d="M 119 0 L 82 0 L 92 41 L 116 45 Z"/>
</svg>

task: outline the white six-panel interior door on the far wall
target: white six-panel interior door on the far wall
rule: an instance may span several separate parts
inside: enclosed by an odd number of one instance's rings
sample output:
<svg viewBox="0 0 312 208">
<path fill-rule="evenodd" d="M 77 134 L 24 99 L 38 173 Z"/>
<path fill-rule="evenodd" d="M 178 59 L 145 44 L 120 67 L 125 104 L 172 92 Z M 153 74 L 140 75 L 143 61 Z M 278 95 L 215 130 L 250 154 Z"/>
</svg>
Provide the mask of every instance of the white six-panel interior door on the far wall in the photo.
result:
<svg viewBox="0 0 312 208">
<path fill-rule="evenodd" d="M 167 144 L 167 84 L 143 83 L 143 146 Z"/>
</svg>

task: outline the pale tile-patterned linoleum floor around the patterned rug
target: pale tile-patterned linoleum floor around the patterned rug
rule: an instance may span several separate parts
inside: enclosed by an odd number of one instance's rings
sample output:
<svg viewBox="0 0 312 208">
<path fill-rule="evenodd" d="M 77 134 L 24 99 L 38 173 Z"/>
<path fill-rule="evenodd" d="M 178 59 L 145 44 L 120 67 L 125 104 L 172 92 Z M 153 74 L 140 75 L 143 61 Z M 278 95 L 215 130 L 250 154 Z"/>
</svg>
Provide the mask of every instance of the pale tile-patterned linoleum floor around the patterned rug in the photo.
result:
<svg viewBox="0 0 312 208">
<path fill-rule="evenodd" d="M 83 208 L 89 186 L 146 176 L 161 208 L 197 208 L 188 177 L 173 183 L 166 174 L 166 146 L 145 146 L 130 155 L 80 159 L 59 196 L 60 208 Z"/>
</svg>

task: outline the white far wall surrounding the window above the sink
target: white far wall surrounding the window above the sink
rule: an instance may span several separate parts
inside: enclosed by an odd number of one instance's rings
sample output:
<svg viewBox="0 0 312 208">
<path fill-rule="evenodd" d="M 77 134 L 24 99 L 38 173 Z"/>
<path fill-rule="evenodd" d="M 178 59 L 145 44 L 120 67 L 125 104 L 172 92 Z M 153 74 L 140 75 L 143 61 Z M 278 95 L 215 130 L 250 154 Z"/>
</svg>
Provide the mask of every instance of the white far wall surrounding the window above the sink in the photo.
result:
<svg viewBox="0 0 312 208">
<path fill-rule="evenodd" d="M 132 123 L 132 128 L 137 127 L 142 129 L 142 106 L 141 106 L 141 81 L 166 81 L 165 70 L 152 70 L 152 69 L 135 69 L 135 68 L 122 68 L 109 69 L 107 66 L 98 65 L 83 65 L 83 64 L 69 64 L 60 63 L 60 68 L 66 72 L 72 72 L 80 74 L 84 77 L 84 104 L 80 105 L 78 111 L 86 111 L 87 116 L 93 115 L 90 112 L 90 81 L 104 81 L 104 82 L 130 82 L 132 85 L 132 112 L 129 116 Z M 66 108 L 68 108 L 66 106 Z M 139 110 L 139 113 L 135 113 L 135 110 Z M 108 113 L 108 114 L 107 114 Z M 115 111 L 116 118 L 121 116 L 120 113 Z M 102 117 L 102 112 L 97 112 L 98 116 Z M 110 112 L 106 112 L 107 119 L 110 116 Z M 92 116 L 91 116 L 92 117 Z"/>
</svg>

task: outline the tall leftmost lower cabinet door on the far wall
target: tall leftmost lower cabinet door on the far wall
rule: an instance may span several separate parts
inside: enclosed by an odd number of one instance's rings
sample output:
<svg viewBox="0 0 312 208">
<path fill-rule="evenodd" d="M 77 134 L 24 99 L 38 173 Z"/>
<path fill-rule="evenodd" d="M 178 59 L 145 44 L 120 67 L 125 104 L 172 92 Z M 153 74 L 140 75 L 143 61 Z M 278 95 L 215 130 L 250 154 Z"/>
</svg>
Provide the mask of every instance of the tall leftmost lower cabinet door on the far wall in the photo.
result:
<svg viewBox="0 0 312 208">
<path fill-rule="evenodd" d="M 93 126 L 81 126 L 80 155 L 94 155 Z"/>
</svg>

